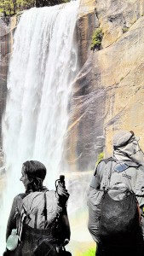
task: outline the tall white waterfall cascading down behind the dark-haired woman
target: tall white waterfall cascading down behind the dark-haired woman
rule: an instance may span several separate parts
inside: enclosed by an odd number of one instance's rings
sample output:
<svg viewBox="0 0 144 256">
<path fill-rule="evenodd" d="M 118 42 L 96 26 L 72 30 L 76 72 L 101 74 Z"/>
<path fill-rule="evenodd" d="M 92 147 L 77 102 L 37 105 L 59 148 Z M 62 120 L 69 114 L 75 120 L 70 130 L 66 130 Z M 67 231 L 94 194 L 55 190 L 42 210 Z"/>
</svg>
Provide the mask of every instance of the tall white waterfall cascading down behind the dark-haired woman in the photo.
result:
<svg viewBox="0 0 144 256">
<path fill-rule="evenodd" d="M 44 184 L 50 189 L 60 172 L 67 105 L 72 80 L 78 73 L 73 37 L 77 16 L 78 2 L 29 9 L 14 34 L 3 115 L 7 187 L 0 212 L 1 253 L 12 200 L 24 191 L 20 183 L 22 163 L 42 161 L 48 170 Z"/>
</svg>

